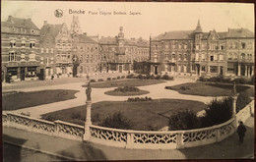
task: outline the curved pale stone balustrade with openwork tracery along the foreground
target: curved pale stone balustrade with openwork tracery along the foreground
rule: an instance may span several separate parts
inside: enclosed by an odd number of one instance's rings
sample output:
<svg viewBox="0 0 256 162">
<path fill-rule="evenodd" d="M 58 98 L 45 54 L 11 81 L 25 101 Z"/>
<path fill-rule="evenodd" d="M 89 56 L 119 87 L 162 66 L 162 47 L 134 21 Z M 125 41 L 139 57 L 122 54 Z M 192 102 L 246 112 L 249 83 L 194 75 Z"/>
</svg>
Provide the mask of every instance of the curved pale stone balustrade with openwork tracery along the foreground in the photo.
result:
<svg viewBox="0 0 256 162">
<path fill-rule="evenodd" d="M 89 126 L 87 140 L 103 145 L 141 149 L 179 149 L 210 144 L 223 140 L 236 131 L 237 122 L 245 121 L 254 113 L 254 100 L 240 110 L 236 116 L 213 127 L 168 132 L 143 132 L 118 130 L 94 125 Z M 13 127 L 35 133 L 56 135 L 83 141 L 85 127 L 62 121 L 48 122 L 32 117 L 2 113 L 4 127 Z"/>
</svg>

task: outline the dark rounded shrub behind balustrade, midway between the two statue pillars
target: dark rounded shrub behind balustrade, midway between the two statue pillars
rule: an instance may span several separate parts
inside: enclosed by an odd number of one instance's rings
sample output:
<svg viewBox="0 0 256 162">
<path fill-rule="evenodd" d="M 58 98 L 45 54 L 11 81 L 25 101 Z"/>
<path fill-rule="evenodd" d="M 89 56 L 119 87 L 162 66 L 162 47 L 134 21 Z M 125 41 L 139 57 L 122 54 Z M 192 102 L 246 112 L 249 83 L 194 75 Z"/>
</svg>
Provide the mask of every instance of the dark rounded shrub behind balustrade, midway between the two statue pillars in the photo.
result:
<svg viewBox="0 0 256 162">
<path fill-rule="evenodd" d="M 170 116 L 168 127 L 170 131 L 197 129 L 199 120 L 196 113 L 190 110 L 179 111 Z"/>
</svg>

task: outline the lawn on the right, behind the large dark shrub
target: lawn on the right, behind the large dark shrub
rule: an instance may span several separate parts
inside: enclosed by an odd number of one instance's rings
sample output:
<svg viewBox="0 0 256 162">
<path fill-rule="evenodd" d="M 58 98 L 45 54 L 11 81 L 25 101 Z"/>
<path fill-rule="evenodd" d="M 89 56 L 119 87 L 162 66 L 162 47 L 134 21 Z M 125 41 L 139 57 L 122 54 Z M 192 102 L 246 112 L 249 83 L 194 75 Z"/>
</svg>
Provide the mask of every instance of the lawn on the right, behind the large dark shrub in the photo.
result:
<svg viewBox="0 0 256 162">
<path fill-rule="evenodd" d="M 182 84 L 171 86 L 173 90 L 176 90 L 181 94 L 202 95 L 202 96 L 230 96 L 232 95 L 232 87 L 233 87 L 232 84 L 203 83 L 203 82 L 189 82 L 189 83 L 182 83 Z M 248 86 L 236 85 L 237 92 L 241 92 L 248 89 L 250 89 L 250 87 Z"/>
</svg>

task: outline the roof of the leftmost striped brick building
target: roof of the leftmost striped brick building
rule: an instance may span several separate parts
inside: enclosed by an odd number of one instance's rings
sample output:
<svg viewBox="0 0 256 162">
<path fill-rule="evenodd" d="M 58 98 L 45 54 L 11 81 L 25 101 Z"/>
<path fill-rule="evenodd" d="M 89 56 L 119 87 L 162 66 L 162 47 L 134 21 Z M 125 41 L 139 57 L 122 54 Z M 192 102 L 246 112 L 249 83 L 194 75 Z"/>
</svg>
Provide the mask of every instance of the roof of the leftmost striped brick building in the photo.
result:
<svg viewBox="0 0 256 162">
<path fill-rule="evenodd" d="M 21 19 L 9 16 L 6 22 L 1 23 L 4 27 L 26 27 L 31 29 L 38 29 L 33 23 L 32 19 Z"/>
</svg>

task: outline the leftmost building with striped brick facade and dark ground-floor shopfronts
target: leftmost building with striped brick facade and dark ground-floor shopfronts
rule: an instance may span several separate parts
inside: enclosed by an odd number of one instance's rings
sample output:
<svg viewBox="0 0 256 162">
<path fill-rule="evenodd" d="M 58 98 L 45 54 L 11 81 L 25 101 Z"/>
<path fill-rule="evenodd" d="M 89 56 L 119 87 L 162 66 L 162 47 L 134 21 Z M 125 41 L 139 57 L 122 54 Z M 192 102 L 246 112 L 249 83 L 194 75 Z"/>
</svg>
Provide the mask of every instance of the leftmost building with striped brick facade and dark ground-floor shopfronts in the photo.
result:
<svg viewBox="0 0 256 162">
<path fill-rule="evenodd" d="M 39 73 L 38 27 L 31 19 L 12 16 L 2 22 L 1 27 L 2 79 L 36 80 Z"/>
</svg>

